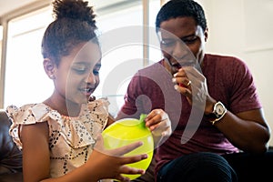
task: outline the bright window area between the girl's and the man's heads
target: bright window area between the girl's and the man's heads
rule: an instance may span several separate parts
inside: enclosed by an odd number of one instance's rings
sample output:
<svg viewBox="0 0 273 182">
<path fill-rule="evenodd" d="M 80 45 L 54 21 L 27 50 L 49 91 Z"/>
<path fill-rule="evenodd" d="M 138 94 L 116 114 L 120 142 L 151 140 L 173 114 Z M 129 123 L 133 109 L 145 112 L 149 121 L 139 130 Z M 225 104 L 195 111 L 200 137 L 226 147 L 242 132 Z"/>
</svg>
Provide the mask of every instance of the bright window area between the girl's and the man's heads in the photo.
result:
<svg viewBox="0 0 273 182">
<path fill-rule="evenodd" d="M 160 4 L 157 0 L 150 1 L 147 27 L 150 33 L 148 46 L 150 55 L 144 60 L 143 34 L 143 4 L 135 1 L 132 5 L 124 6 L 118 11 L 97 11 L 97 25 L 102 37 L 102 68 L 100 71 L 101 83 L 94 95 L 107 97 L 110 102 L 109 112 L 116 116 L 122 106 L 126 87 L 136 73 L 143 66 L 157 62 L 161 58 L 157 44 L 155 21 Z M 99 14 L 101 13 L 101 14 Z"/>
</svg>

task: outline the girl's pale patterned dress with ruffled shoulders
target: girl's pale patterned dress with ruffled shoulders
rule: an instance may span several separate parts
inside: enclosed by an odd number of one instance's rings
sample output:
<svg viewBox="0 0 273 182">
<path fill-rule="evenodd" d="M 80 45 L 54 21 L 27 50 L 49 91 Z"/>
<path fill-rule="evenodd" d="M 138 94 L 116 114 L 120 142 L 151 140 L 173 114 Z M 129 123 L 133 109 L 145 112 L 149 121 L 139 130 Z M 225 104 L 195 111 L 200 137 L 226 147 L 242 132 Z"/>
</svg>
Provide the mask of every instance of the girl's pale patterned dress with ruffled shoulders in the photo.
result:
<svg viewBox="0 0 273 182">
<path fill-rule="evenodd" d="M 13 122 L 10 135 L 20 149 L 23 149 L 19 136 L 21 125 L 48 123 L 50 174 L 51 177 L 60 177 L 86 163 L 93 151 L 96 135 L 106 126 L 108 102 L 103 99 L 89 102 L 82 106 L 77 117 L 62 116 L 42 103 L 20 108 L 8 106 L 6 111 Z"/>
</svg>

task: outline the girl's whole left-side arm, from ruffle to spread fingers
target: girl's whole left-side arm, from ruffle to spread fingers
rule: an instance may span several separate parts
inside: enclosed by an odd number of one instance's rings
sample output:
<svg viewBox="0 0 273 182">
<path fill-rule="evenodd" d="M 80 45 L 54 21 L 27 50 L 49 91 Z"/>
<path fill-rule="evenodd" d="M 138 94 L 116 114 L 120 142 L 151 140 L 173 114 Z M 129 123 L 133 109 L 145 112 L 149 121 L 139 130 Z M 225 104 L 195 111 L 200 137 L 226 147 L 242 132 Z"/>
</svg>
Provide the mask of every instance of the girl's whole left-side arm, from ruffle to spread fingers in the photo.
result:
<svg viewBox="0 0 273 182">
<path fill-rule="evenodd" d="M 67 175 L 50 177 L 50 152 L 48 146 L 48 126 L 46 122 L 22 126 L 21 141 L 23 143 L 23 176 L 24 181 L 58 181 L 58 182 L 95 182 L 102 178 L 116 178 L 129 181 L 121 174 L 144 174 L 142 169 L 127 167 L 126 164 L 147 158 L 146 154 L 135 157 L 123 157 L 126 153 L 141 146 L 137 142 L 126 147 L 106 150 L 102 136 L 98 136 L 96 147 L 86 164 L 76 168 Z"/>
</svg>

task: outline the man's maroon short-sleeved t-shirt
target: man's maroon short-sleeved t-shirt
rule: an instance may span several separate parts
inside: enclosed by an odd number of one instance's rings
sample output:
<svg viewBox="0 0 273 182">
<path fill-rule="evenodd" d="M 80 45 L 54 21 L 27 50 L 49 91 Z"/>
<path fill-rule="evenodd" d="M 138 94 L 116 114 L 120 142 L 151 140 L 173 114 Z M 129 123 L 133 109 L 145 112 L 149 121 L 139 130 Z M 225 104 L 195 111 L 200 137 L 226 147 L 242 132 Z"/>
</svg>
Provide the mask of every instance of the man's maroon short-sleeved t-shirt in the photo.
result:
<svg viewBox="0 0 273 182">
<path fill-rule="evenodd" d="M 202 73 L 207 78 L 209 95 L 221 101 L 230 112 L 237 114 L 261 108 L 253 77 L 244 62 L 232 56 L 206 55 L 203 64 Z M 205 118 L 188 122 L 198 111 L 174 89 L 171 79 L 162 60 L 139 70 L 127 88 L 125 105 L 117 116 L 138 118 L 141 113 L 148 114 L 155 108 L 167 112 L 173 133 L 157 148 L 156 172 L 168 161 L 194 152 L 238 152 L 238 148 Z M 183 135 L 186 132 L 192 136 L 187 138 Z M 182 135 L 186 143 L 181 142 Z"/>
</svg>

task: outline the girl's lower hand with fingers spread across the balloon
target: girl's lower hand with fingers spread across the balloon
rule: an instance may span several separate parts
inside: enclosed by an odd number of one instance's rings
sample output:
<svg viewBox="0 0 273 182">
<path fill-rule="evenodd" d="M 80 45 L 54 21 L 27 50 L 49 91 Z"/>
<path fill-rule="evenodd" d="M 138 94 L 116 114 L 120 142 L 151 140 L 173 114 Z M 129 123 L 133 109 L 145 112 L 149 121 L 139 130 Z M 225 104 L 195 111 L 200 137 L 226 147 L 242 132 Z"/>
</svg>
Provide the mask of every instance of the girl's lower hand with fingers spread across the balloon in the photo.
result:
<svg viewBox="0 0 273 182">
<path fill-rule="evenodd" d="M 134 157 L 124 157 L 124 155 L 142 145 L 141 142 L 136 142 L 125 147 L 106 150 L 104 147 L 103 137 L 99 135 L 96 139 L 94 151 L 89 157 L 87 161 L 88 164 L 86 163 L 86 165 L 92 165 L 91 168 L 92 170 L 95 170 L 94 174 L 96 174 L 97 179 L 112 178 L 120 181 L 129 181 L 129 178 L 122 176 L 122 174 L 143 175 L 145 170 L 128 167 L 126 165 L 146 159 L 147 154 L 137 155 Z"/>
</svg>

